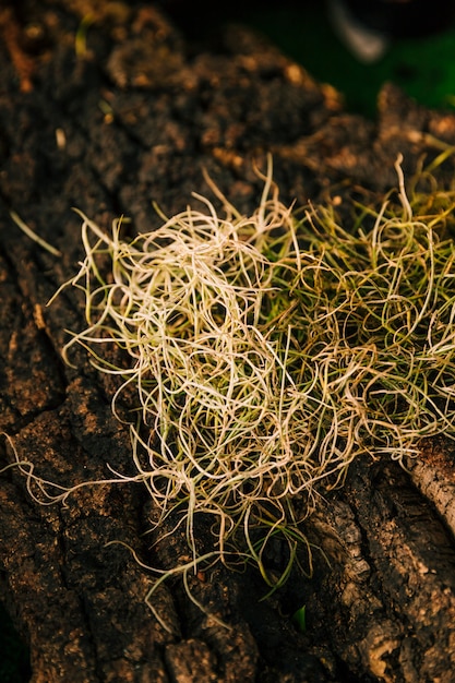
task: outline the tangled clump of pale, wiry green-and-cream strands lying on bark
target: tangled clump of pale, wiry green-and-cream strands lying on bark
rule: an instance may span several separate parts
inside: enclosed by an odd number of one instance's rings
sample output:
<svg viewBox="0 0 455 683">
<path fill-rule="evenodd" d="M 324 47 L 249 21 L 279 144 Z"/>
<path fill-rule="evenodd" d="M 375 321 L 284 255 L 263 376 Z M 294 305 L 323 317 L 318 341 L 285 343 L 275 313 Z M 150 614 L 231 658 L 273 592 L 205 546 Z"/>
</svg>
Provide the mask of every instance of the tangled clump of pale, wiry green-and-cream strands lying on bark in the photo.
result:
<svg viewBox="0 0 455 683">
<path fill-rule="evenodd" d="M 83 216 L 71 284 L 87 327 L 64 356 L 82 344 L 122 378 L 115 411 L 134 387 L 137 479 L 163 516 L 184 511 L 194 553 L 195 515 L 211 515 L 217 552 L 240 534 L 268 580 L 266 542 L 280 531 L 294 553 L 316 482 L 336 486 L 359 454 L 403 459 L 454 436 L 453 203 L 415 216 L 396 169 L 400 203 L 350 231 L 333 206 L 284 206 L 271 164 L 248 217 L 213 183 L 223 216 L 194 195 L 201 211 L 131 241 L 120 220 L 107 235 Z"/>
</svg>

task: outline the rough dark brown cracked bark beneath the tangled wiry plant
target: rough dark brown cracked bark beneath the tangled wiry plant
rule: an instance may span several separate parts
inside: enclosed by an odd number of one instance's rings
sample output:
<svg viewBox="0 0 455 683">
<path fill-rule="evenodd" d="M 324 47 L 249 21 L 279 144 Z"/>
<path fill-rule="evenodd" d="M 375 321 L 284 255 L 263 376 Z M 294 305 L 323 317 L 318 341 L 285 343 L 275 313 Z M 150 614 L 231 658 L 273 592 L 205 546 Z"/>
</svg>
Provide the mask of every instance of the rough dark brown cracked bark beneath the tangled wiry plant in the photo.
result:
<svg viewBox="0 0 455 683">
<path fill-rule="evenodd" d="M 455 144 L 455 117 L 428 111 L 393 86 L 378 120 L 343 111 L 342 98 L 258 37 L 226 28 L 193 49 L 152 2 L 37 0 L 0 10 L 0 430 L 21 460 L 68 486 L 128 470 L 129 438 L 111 415 L 112 387 L 81 350 L 61 360 L 65 328 L 83 309 L 67 290 L 46 302 L 82 256 L 72 206 L 134 230 L 207 192 L 202 168 L 242 211 L 260 182 L 252 160 L 273 152 L 284 201 L 384 193 L 398 152 L 411 175 Z M 453 176 L 440 166 L 439 181 Z M 331 190 L 330 190 L 331 189 Z M 15 211 L 58 248 L 56 257 L 10 218 Z M 431 443 L 409 463 L 359 460 L 344 489 L 308 523 L 313 578 L 296 570 L 260 601 L 253 570 L 217 567 L 144 597 L 145 562 L 170 567 L 184 539 L 151 550 L 148 501 L 137 486 L 80 489 L 64 506 L 38 505 L 26 478 L 1 475 L 0 588 L 29 643 L 34 683 L 387 681 L 450 683 L 455 671 L 455 466 Z M 3 465 L 14 460 L 0 444 Z M 34 491 L 34 484 L 31 483 Z M 36 493 L 35 489 L 35 493 Z M 326 561 L 328 560 L 328 562 Z M 308 630 L 290 614 L 307 606 Z"/>
</svg>

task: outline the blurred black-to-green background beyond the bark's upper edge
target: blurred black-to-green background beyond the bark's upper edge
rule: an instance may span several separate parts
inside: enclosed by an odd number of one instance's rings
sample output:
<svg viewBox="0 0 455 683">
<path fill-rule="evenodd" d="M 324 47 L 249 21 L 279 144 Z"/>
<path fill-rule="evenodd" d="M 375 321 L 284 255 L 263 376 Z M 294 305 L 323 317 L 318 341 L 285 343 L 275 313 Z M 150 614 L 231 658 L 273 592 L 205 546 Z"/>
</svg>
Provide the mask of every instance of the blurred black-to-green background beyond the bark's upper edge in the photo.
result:
<svg viewBox="0 0 455 683">
<path fill-rule="evenodd" d="M 455 108 L 455 22 L 432 36 L 396 39 L 381 60 L 366 64 L 336 36 L 324 0 L 230 0 L 212 5 L 203 0 L 158 1 L 195 43 L 215 43 L 226 21 L 261 32 L 318 81 L 342 92 L 350 111 L 374 118 L 378 93 L 386 81 L 429 107 Z M 429 0 L 428 12 L 431 8 Z"/>
</svg>

